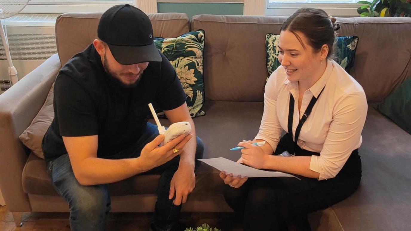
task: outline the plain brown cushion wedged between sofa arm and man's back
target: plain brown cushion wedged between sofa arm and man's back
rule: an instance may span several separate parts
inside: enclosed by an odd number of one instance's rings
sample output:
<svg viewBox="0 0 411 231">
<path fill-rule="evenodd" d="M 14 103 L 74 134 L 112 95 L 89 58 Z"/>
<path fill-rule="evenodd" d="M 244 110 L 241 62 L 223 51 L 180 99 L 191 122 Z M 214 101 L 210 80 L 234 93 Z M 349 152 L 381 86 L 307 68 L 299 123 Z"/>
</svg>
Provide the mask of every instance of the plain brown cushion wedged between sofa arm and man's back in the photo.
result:
<svg viewBox="0 0 411 231">
<path fill-rule="evenodd" d="M 51 85 L 46 101 L 39 113 L 37 113 L 37 116 L 33 119 L 30 126 L 18 137 L 27 148 L 30 148 L 35 155 L 42 159 L 44 159 L 42 139 L 54 118 L 53 93 L 54 83 Z"/>
</svg>

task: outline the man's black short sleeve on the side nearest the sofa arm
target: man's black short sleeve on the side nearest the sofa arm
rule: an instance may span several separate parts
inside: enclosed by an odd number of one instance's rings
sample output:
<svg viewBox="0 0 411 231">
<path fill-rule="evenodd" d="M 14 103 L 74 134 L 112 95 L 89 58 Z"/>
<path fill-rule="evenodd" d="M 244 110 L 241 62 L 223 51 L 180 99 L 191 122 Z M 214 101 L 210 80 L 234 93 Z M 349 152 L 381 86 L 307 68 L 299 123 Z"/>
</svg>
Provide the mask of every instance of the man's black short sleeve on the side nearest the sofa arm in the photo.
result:
<svg viewBox="0 0 411 231">
<path fill-rule="evenodd" d="M 60 73 L 54 85 L 54 111 L 60 136 L 98 134 L 97 106 L 79 83 Z"/>
</svg>

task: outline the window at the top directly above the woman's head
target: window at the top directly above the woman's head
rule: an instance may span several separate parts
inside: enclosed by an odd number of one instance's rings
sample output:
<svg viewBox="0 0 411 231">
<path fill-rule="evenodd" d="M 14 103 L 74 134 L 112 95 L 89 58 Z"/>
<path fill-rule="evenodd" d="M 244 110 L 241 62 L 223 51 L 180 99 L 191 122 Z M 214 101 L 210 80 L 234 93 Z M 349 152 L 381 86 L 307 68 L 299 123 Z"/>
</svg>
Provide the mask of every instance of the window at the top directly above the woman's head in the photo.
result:
<svg viewBox="0 0 411 231">
<path fill-rule="evenodd" d="M 267 0 L 266 15 L 290 16 L 300 7 L 316 7 L 332 16 L 359 16 L 360 0 Z"/>
</svg>

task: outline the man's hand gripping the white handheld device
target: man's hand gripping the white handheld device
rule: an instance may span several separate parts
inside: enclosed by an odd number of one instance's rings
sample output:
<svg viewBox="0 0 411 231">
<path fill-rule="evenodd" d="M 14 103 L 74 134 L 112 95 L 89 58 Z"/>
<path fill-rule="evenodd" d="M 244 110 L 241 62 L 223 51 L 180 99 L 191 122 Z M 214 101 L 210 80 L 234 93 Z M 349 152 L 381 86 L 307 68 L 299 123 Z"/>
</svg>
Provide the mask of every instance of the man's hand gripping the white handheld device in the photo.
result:
<svg viewBox="0 0 411 231">
<path fill-rule="evenodd" d="M 158 135 L 153 141 L 147 143 L 143 150 L 141 150 L 140 157 L 141 163 L 145 171 L 153 169 L 157 166 L 169 162 L 171 159 L 180 155 L 180 152 L 173 152 L 174 148 L 182 150 L 185 144 L 193 137 L 192 134 L 185 136 L 184 134 L 166 143 L 164 146 L 158 145 L 164 141 L 164 135 Z"/>
</svg>

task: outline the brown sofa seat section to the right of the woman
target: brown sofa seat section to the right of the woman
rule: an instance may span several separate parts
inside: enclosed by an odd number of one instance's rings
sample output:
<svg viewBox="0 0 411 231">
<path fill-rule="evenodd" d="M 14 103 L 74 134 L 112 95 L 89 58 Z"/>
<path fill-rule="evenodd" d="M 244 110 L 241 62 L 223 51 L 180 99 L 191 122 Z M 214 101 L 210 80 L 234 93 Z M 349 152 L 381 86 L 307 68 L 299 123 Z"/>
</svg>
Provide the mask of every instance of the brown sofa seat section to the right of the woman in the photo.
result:
<svg viewBox="0 0 411 231">
<path fill-rule="evenodd" d="M 362 135 L 360 187 L 332 210 L 344 230 L 411 230 L 411 135 L 371 106 Z"/>
</svg>

